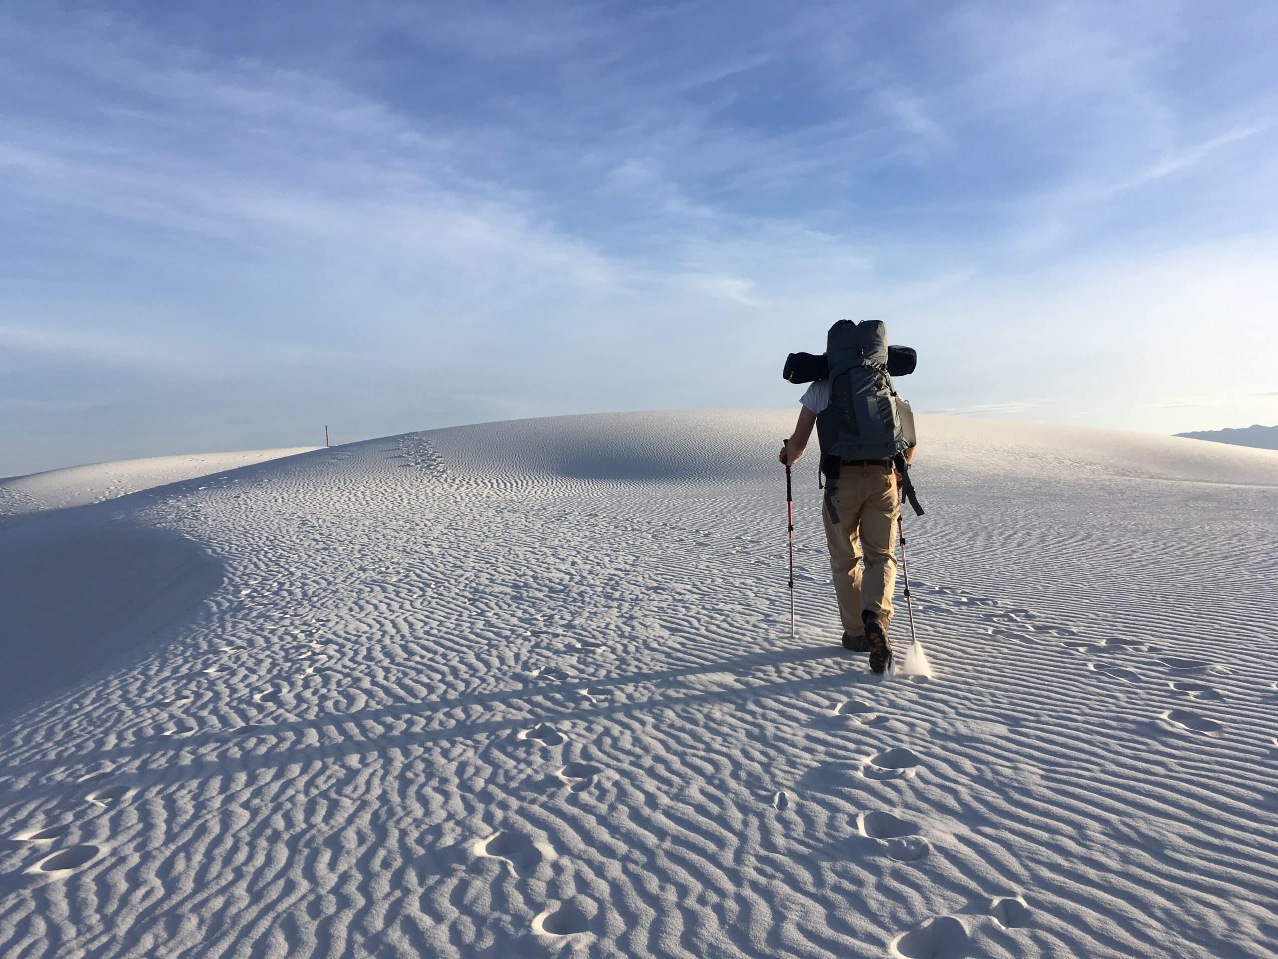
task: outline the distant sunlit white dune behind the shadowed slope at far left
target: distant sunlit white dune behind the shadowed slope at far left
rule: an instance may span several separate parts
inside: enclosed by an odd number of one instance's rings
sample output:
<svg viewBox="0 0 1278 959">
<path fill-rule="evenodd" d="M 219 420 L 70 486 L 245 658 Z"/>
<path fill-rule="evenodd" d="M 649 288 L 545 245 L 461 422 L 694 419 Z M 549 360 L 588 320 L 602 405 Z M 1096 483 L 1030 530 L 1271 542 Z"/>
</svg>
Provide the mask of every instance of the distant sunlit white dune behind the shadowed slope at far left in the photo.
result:
<svg viewBox="0 0 1278 959">
<path fill-rule="evenodd" d="M 276 450 L 239 450 L 236 453 L 188 453 L 180 456 L 147 456 L 84 467 L 49 469 L 28 476 L 0 478 L 0 529 L 5 520 L 50 509 L 83 506 L 150 490 L 167 483 L 180 483 L 208 473 L 262 463 L 268 459 L 307 453 L 314 446 L 291 446 Z"/>
</svg>

